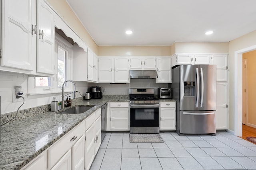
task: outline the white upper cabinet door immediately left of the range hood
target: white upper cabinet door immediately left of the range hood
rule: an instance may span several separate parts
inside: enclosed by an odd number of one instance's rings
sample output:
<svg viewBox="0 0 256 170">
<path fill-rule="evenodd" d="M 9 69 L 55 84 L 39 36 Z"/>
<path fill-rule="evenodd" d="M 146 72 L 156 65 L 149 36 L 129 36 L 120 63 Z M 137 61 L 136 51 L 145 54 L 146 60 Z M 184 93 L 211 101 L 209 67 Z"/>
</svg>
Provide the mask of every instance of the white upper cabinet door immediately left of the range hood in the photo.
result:
<svg viewBox="0 0 256 170">
<path fill-rule="evenodd" d="M 129 61 L 127 57 L 114 58 L 114 82 L 128 83 L 129 82 Z"/>
</svg>

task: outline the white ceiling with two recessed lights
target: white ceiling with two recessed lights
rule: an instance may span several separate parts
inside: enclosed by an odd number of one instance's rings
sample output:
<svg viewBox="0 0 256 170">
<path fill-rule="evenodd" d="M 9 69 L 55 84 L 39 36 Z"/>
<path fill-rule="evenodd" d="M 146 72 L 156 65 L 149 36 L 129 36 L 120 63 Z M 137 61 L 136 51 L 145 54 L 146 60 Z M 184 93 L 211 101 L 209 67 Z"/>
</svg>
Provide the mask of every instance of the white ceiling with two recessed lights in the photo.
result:
<svg viewBox="0 0 256 170">
<path fill-rule="evenodd" d="M 256 0 L 66 1 L 97 45 L 222 42 L 256 30 Z"/>
</svg>

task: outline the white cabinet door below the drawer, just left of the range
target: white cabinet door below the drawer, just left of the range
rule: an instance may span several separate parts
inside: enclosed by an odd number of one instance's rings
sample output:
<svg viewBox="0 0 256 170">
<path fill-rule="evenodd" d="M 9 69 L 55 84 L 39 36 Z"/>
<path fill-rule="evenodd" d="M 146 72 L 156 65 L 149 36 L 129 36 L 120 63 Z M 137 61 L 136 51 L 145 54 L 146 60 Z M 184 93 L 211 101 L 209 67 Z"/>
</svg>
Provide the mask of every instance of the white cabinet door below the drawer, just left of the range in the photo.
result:
<svg viewBox="0 0 256 170">
<path fill-rule="evenodd" d="M 129 130 L 129 108 L 112 107 L 110 108 L 110 130 Z"/>
</svg>

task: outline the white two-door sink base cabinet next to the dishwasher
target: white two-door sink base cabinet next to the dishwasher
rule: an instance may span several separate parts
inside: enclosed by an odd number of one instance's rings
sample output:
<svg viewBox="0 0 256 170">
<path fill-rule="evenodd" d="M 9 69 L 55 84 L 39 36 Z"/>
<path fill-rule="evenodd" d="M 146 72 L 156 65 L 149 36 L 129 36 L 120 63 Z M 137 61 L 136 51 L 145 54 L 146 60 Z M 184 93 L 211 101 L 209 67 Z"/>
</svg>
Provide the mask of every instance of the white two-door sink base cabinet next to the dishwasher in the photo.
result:
<svg viewBox="0 0 256 170">
<path fill-rule="evenodd" d="M 85 120 L 85 170 L 89 170 L 101 144 L 101 108 Z"/>
</svg>

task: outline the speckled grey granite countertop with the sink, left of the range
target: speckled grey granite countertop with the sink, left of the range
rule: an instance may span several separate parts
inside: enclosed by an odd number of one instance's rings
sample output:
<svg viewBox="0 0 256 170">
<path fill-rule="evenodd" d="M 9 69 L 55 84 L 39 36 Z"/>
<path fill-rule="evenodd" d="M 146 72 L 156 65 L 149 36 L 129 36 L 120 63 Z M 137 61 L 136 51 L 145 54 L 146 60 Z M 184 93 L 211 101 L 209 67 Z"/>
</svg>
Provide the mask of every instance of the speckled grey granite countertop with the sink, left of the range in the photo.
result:
<svg viewBox="0 0 256 170">
<path fill-rule="evenodd" d="M 113 96 L 89 101 L 80 100 L 74 106 L 94 107 L 80 114 L 59 114 L 48 111 L 2 126 L 0 169 L 21 169 L 108 101 L 129 101 L 129 98 Z M 70 107 L 66 109 L 68 108 Z"/>
</svg>

